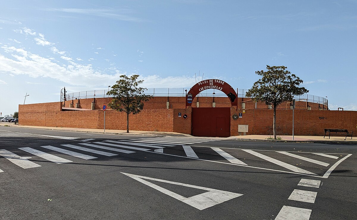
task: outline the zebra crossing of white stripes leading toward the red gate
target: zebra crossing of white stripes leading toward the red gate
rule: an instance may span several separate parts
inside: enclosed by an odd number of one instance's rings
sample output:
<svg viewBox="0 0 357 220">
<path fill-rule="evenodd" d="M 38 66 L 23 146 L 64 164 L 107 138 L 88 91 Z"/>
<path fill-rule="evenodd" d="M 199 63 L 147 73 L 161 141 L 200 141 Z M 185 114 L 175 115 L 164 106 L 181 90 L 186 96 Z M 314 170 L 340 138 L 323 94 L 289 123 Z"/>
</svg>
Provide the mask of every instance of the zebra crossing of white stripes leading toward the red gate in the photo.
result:
<svg viewBox="0 0 357 220">
<path fill-rule="evenodd" d="M 55 136 L 54 136 L 55 137 Z M 61 138 L 66 139 L 66 138 Z M 75 138 L 70 138 L 68 140 L 74 140 Z M 77 138 L 78 140 L 78 138 Z M 17 148 L 23 151 L 24 154 L 30 154 L 31 157 L 22 157 L 21 155 L 15 154 L 6 149 L 0 149 L 0 173 L 5 172 L 2 168 L 1 157 L 7 159 L 12 164 L 17 165 L 23 169 L 41 167 L 40 164 L 32 162 L 35 158 L 42 158 L 44 160 L 62 164 L 71 163 L 72 160 L 65 159 L 54 155 L 52 152 L 61 153 L 69 155 L 74 158 L 90 160 L 97 159 L 95 155 L 101 155 L 105 157 L 120 156 L 122 154 L 131 154 L 136 152 L 147 152 L 154 150 L 162 150 L 166 147 L 175 147 L 180 144 L 197 144 L 202 142 L 215 141 L 212 139 L 200 139 L 200 138 L 177 138 L 177 137 L 156 137 L 156 138 L 136 138 L 130 140 L 102 140 L 99 139 L 79 139 L 77 144 L 60 144 L 60 146 L 44 145 L 39 147 L 20 147 Z M 72 150 L 71 150 L 72 149 Z M 82 153 L 73 151 L 77 150 Z M 109 151 L 109 152 L 108 152 Z M 115 152 L 115 153 L 112 153 Z M 162 151 L 163 152 L 163 151 Z M 87 155 L 90 153 L 91 155 Z M 93 155 L 95 154 L 95 155 Z M 36 161 L 38 161 L 36 159 Z M 1 169 L 2 168 L 2 169 Z"/>
</svg>

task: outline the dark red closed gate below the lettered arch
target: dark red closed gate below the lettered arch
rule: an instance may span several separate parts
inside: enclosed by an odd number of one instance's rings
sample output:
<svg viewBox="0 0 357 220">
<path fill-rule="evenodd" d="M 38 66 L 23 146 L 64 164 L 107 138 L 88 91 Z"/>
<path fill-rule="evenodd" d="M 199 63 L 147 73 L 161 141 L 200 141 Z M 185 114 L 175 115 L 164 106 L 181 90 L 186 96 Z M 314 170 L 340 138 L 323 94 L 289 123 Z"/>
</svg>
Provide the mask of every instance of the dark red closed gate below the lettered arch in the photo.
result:
<svg viewBox="0 0 357 220">
<path fill-rule="evenodd" d="M 231 108 L 192 108 L 192 135 L 230 137 Z"/>
</svg>

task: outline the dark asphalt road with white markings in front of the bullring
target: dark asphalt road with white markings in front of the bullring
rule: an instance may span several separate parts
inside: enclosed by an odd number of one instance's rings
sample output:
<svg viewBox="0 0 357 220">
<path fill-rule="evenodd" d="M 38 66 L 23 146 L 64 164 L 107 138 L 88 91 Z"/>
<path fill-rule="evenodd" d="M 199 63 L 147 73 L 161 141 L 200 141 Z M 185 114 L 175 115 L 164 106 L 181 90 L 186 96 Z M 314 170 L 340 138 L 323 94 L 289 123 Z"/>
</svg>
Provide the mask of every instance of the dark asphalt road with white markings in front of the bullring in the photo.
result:
<svg viewBox="0 0 357 220">
<path fill-rule="evenodd" d="M 0 219 L 357 219 L 356 154 L 1 126 Z"/>
</svg>

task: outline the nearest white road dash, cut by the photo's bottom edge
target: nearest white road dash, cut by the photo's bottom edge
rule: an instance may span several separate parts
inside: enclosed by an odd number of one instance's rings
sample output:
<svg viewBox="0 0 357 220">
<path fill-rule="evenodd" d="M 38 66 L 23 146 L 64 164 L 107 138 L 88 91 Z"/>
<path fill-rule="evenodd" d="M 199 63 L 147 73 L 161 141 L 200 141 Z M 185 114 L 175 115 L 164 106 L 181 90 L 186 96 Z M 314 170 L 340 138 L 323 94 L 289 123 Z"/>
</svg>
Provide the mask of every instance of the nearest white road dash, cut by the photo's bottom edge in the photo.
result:
<svg viewBox="0 0 357 220">
<path fill-rule="evenodd" d="M 302 209 L 284 205 L 275 220 L 309 220 L 311 209 Z"/>
</svg>

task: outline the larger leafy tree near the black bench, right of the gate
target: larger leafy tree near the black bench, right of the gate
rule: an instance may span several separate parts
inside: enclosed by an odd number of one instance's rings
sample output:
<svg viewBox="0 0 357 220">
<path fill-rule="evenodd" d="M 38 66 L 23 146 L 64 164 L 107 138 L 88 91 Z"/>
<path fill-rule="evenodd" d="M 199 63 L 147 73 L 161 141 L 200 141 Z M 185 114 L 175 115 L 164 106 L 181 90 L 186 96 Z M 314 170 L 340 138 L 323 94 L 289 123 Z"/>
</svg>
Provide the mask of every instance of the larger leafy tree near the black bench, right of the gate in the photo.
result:
<svg viewBox="0 0 357 220">
<path fill-rule="evenodd" d="M 286 70 L 285 66 L 268 66 L 268 71 L 256 71 L 262 78 L 256 81 L 246 93 L 253 101 L 261 101 L 271 105 L 274 111 L 273 132 L 276 139 L 276 108 L 282 102 L 292 101 L 294 96 L 301 96 L 309 92 L 304 87 L 299 87 L 303 81 L 295 74 Z"/>
</svg>

